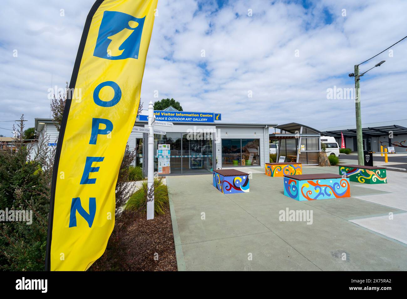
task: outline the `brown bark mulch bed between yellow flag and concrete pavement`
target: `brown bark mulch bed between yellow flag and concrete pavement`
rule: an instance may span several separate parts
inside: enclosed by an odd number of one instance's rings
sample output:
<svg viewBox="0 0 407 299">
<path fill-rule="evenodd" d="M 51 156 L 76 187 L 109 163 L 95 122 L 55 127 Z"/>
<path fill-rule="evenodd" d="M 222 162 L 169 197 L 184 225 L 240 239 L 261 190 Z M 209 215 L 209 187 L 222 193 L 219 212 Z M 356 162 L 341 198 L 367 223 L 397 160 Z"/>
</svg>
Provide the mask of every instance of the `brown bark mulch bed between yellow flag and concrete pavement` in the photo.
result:
<svg viewBox="0 0 407 299">
<path fill-rule="evenodd" d="M 152 220 L 145 213 L 127 212 L 125 223 L 115 225 L 121 229 L 113 232 L 89 271 L 177 271 L 169 208 Z"/>
</svg>

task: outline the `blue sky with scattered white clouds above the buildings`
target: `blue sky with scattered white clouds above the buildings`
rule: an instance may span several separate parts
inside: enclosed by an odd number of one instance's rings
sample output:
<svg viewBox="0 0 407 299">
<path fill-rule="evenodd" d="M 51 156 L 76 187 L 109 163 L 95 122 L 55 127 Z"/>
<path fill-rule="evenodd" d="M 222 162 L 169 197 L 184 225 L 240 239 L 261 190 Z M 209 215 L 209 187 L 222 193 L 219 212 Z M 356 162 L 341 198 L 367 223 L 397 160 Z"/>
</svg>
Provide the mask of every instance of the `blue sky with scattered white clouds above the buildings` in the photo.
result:
<svg viewBox="0 0 407 299">
<path fill-rule="evenodd" d="M 2 0 L 0 134 L 11 136 L 22 113 L 27 127 L 50 116 L 48 89 L 70 80 L 93 3 Z M 328 100 L 327 89 L 354 87 L 354 64 L 405 37 L 406 11 L 404 0 L 159 0 L 144 107 L 158 90 L 223 122 L 354 124 L 354 101 Z M 391 50 L 361 65 L 386 60 L 362 77 L 363 122 L 407 118 L 407 39 Z"/>
</svg>

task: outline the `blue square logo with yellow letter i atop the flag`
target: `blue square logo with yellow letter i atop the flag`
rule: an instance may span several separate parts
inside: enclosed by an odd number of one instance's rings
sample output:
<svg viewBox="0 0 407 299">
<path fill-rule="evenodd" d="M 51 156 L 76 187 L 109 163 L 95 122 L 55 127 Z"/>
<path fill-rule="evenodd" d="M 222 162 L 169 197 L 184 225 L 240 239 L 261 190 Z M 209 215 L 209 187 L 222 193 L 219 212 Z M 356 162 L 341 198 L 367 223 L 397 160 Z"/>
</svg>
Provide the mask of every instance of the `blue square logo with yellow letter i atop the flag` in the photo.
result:
<svg viewBox="0 0 407 299">
<path fill-rule="evenodd" d="M 118 11 L 105 11 L 93 55 L 112 60 L 138 59 L 145 18 L 139 19 Z"/>
</svg>

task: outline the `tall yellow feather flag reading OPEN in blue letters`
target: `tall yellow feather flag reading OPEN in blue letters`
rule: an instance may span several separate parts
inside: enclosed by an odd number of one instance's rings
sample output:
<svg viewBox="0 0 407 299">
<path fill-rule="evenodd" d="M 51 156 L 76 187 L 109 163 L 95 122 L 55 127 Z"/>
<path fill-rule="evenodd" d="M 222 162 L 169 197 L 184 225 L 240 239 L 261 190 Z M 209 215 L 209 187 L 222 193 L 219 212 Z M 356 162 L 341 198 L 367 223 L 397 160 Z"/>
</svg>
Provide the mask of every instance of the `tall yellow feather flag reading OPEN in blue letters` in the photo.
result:
<svg viewBox="0 0 407 299">
<path fill-rule="evenodd" d="M 98 0 L 86 19 L 57 143 L 46 270 L 85 271 L 114 227 L 158 0 Z"/>
</svg>

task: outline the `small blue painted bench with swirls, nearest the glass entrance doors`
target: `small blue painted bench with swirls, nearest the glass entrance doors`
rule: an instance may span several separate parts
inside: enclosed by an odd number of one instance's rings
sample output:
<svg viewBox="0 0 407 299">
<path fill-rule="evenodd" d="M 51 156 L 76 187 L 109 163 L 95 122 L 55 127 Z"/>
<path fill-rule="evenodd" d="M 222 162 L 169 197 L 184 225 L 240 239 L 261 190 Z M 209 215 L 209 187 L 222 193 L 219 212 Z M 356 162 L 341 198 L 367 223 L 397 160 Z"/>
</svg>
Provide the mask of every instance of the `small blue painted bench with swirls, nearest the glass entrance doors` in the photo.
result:
<svg viewBox="0 0 407 299">
<path fill-rule="evenodd" d="M 249 192 L 249 174 L 236 169 L 213 171 L 213 186 L 223 194 Z"/>
</svg>

